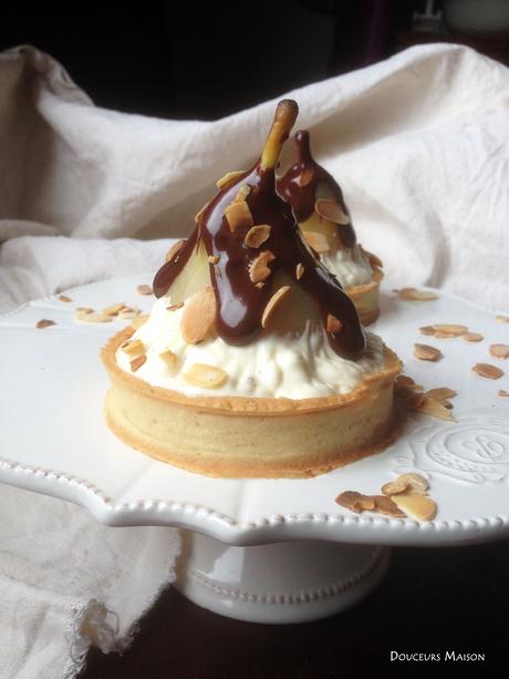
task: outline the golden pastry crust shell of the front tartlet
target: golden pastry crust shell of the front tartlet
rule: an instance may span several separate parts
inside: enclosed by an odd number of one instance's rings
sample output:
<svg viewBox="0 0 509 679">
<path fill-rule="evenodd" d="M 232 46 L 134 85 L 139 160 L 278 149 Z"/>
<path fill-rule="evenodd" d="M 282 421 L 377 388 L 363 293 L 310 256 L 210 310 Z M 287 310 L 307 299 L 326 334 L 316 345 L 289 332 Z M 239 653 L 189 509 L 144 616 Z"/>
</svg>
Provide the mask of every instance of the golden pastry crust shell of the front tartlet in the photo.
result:
<svg viewBox="0 0 509 679">
<path fill-rule="evenodd" d="M 313 399 L 187 397 L 118 368 L 127 328 L 102 351 L 112 385 L 106 421 L 125 443 L 188 471 L 221 477 L 307 477 L 381 450 L 394 436 L 398 358 L 349 394 Z"/>
</svg>

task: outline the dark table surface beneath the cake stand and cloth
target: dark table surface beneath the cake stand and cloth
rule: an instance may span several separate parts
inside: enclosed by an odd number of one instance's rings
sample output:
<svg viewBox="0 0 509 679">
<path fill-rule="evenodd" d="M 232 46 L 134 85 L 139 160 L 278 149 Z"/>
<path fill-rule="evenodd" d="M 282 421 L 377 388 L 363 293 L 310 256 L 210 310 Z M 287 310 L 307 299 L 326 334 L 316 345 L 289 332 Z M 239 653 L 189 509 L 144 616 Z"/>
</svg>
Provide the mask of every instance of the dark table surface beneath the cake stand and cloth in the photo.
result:
<svg viewBox="0 0 509 679">
<path fill-rule="evenodd" d="M 123 657 L 89 654 L 84 679 L 509 677 L 509 541 L 394 548 L 378 588 L 316 623 L 256 625 L 168 589 Z M 391 661 L 391 651 L 435 661 Z M 485 660 L 445 660 L 446 651 Z"/>
</svg>

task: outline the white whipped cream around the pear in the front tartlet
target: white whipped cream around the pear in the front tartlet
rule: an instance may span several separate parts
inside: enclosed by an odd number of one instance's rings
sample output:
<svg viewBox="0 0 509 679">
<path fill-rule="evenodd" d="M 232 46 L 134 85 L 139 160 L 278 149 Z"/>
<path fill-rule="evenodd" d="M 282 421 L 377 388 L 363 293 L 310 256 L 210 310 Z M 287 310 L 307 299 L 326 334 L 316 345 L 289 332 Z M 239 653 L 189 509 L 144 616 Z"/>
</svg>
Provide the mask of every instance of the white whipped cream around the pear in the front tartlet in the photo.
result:
<svg viewBox="0 0 509 679">
<path fill-rule="evenodd" d="M 135 374 L 154 387 L 187 395 L 308 399 L 347 393 L 384 364 L 384 344 L 376 335 L 367 332 L 363 356 L 347 360 L 331 349 L 322 325 L 314 321 L 308 321 L 299 335 L 264 330 L 242 347 L 227 344 L 219 337 L 188 344 L 180 332 L 183 307 L 168 310 L 170 305 L 168 296 L 158 299 L 132 338 L 143 342 L 146 354 Z M 177 357 L 174 369 L 159 357 L 167 350 Z M 116 352 L 117 364 L 126 372 L 131 372 L 133 358 L 122 349 Z M 184 375 L 195 363 L 220 368 L 228 379 L 215 389 L 190 384 Z"/>
</svg>

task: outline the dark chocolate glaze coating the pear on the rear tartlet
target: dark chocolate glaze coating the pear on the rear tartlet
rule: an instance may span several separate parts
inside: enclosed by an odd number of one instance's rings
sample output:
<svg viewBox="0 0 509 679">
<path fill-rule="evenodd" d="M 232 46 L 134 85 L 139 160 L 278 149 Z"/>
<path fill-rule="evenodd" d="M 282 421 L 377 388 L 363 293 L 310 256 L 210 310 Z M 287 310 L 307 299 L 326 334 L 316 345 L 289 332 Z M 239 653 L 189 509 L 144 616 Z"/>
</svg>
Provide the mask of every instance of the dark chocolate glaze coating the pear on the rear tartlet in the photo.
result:
<svg viewBox="0 0 509 679">
<path fill-rule="evenodd" d="M 320 184 L 325 185 L 328 197 L 336 200 L 343 212 L 350 216 L 337 182 L 311 155 L 310 133 L 307 130 L 300 130 L 295 133 L 293 141 L 299 153 L 299 160 L 283 177 L 278 179 L 277 188 L 283 200 L 291 205 L 295 219 L 302 223 L 311 217 Z M 352 224 L 339 226 L 337 235 L 345 247 L 353 247 L 356 243 Z"/>
</svg>

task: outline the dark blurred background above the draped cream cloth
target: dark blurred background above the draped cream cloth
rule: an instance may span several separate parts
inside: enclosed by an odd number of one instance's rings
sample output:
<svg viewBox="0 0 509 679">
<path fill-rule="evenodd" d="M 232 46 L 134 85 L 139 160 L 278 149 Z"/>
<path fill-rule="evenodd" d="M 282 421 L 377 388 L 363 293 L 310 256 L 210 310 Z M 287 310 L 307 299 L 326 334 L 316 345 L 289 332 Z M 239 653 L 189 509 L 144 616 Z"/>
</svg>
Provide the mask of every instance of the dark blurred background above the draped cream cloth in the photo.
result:
<svg viewBox="0 0 509 679">
<path fill-rule="evenodd" d="M 509 64 L 509 0 L 29 7 L 2 9 L 0 49 L 33 44 L 97 105 L 160 117 L 222 117 L 423 42 L 468 44 Z"/>
</svg>

